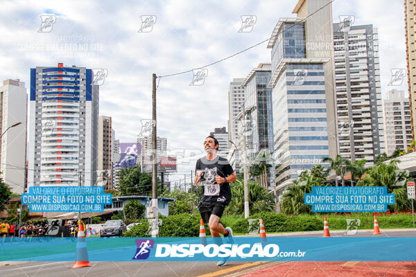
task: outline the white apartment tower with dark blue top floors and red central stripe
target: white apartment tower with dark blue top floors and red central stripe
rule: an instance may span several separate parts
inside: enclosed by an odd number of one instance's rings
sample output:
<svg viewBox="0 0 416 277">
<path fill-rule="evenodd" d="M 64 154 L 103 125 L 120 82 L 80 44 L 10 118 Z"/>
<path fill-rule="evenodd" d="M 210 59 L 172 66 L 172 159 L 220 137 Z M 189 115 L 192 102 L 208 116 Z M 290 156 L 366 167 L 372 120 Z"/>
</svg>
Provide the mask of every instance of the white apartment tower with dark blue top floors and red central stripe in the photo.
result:
<svg viewBox="0 0 416 277">
<path fill-rule="evenodd" d="M 92 70 L 37 66 L 31 69 L 30 97 L 28 187 L 94 186 L 98 85 Z"/>
</svg>

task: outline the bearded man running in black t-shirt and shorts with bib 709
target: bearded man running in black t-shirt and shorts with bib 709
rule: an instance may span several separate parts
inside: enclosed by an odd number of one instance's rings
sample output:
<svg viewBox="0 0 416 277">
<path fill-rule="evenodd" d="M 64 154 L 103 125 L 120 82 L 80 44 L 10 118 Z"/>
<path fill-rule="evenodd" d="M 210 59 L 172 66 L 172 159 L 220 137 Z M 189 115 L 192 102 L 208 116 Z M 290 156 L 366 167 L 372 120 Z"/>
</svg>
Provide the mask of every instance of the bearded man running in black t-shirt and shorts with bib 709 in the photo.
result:
<svg viewBox="0 0 416 277">
<path fill-rule="evenodd" d="M 227 159 L 216 155 L 218 146 L 218 141 L 214 136 L 207 136 L 204 141 L 207 157 L 196 161 L 194 181 L 197 185 L 202 181 L 204 186 L 198 209 L 204 223 L 208 223 L 211 235 L 219 238 L 222 233 L 232 243 L 232 230 L 220 224 L 220 217 L 223 216 L 225 207 L 231 201 L 231 188 L 228 183 L 236 181 L 237 177 Z M 226 259 L 220 260 L 217 265 L 222 266 L 226 262 Z"/>
</svg>

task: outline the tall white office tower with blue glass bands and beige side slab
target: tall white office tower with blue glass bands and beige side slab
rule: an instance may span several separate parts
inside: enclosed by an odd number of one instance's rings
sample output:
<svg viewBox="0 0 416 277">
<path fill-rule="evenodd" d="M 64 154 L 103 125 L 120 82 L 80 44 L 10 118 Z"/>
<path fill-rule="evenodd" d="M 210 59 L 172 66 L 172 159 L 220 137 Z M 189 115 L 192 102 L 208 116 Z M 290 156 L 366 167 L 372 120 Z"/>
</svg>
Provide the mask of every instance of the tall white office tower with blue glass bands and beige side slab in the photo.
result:
<svg viewBox="0 0 416 277">
<path fill-rule="evenodd" d="M 271 48 L 276 191 L 281 196 L 300 172 L 336 157 L 331 6 L 327 0 L 300 0 L 296 18 L 280 19 Z"/>
</svg>

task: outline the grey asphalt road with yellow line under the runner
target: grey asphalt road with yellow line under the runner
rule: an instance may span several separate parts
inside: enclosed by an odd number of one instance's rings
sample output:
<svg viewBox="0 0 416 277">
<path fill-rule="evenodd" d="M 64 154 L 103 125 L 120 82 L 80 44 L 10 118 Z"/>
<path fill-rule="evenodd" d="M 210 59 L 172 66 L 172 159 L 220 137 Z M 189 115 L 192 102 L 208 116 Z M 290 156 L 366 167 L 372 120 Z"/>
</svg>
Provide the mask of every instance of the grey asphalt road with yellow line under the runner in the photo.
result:
<svg viewBox="0 0 416 277">
<path fill-rule="evenodd" d="M 381 230 L 377 236 L 415 237 L 416 231 L 406 229 Z M 322 232 L 268 234 L 268 236 L 320 237 Z M 343 231 L 332 231 L 331 236 L 344 236 Z M 345 235 L 346 236 L 346 235 Z M 358 231 L 356 236 L 371 237 L 372 231 Z M 0 276 L 237 276 L 247 274 L 251 269 L 259 269 L 276 262 L 229 262 L 225 267 L 217 267 L 216 262 L 91 262 L 94 267 L 69 269 L 73 262 L 26 262 L 19 265 L 0 266 Z M 281 263 L 281 262 L 280 262 Z"/>
</svg>

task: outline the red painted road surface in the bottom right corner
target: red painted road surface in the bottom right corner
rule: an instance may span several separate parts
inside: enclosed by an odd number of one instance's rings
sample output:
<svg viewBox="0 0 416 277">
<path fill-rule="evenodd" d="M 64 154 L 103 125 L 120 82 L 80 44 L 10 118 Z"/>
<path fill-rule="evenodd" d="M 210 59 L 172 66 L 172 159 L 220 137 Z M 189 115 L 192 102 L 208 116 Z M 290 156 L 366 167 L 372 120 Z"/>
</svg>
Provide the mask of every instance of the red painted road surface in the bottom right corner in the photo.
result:
<svg viewBox="0 0 416 277">
<path fill-rule="evenodd" d="M 285 262 L 252 271 L 243 276 L 414 277 L 416 276 L 416 262 Z"/>
</svg>

